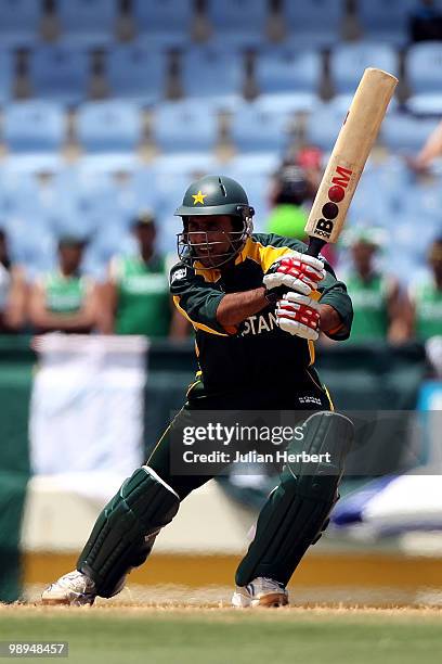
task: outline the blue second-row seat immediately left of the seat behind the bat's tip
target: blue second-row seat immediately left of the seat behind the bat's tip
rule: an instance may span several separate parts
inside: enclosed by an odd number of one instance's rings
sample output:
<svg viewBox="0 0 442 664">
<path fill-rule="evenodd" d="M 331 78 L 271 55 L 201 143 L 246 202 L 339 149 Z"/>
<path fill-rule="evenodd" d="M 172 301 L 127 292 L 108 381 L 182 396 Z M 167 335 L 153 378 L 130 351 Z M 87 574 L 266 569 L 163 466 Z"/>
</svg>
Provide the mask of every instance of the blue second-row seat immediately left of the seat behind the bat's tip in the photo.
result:
<svg viewBox="0 0 442 664">
<path fill-rule="evenodd" d="M 311 111 L 318 101 L 321 55 L 317 51 L 264 51 L 258 58 L 255 76 L 262 110 Z"/>
</svg>

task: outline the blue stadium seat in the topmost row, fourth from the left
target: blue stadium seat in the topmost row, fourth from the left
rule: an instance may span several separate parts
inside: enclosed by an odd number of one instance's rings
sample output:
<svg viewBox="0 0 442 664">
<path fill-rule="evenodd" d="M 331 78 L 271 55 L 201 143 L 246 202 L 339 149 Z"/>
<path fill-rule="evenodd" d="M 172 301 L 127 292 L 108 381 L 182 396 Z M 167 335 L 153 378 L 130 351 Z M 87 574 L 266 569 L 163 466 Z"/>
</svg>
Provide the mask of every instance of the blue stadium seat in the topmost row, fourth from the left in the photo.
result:
<svg viewBox="0 0 442 664">
<path fill-rule="evenodd" d="M 224 44 L 250 48 L 265 42 L 268 0 L 209 0 L 207 15 Z"/>
</svg>

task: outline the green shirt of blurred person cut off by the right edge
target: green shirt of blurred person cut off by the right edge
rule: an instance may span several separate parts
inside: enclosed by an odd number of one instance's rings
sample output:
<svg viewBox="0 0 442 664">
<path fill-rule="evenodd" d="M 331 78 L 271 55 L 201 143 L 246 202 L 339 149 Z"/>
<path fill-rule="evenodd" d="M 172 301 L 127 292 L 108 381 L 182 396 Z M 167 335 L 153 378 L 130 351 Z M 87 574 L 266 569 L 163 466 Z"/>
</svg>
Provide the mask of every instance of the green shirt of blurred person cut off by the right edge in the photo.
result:
<svg viewBox="0 0 442 664">
<path fill-rule="evenodd" d="M 415 306 L 415 334 L 426 341 L 442 334 L 442 291 L 431 276 L 412 284 L 410 296 Z"/>
</svg>

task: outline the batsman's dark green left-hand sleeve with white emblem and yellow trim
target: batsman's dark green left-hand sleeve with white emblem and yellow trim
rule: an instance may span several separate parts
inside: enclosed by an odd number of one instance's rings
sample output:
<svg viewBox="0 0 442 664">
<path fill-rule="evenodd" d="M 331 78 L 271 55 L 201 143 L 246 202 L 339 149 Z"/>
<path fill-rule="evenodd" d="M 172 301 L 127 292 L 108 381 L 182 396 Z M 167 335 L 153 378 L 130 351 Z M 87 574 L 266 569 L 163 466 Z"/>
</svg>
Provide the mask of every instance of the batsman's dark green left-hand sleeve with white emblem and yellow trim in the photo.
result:
<svg viewBox="0 0 442 664">
<path fill-rule="evenodd" d="M 229 336 L 217 320 L 217 309 L 224 293 L 196 274 L 193 268 L 177 264 L 170 271 L 170 293 L 173 304 L 195 329 Z"/>
</svg>

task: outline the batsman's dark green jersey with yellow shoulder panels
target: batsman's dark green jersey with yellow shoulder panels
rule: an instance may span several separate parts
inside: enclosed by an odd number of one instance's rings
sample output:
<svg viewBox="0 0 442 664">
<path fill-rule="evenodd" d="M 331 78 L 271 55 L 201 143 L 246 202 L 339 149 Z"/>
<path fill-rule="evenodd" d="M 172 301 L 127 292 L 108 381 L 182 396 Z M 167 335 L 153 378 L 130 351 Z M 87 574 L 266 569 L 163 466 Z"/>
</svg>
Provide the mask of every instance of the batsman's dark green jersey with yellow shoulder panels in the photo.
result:
<svg viewBox="0 0 442 664">
<path fill-rule="evenodd" d="M 307 246 L 295 239 L 253 233 L 232 269 L 199 269 L 198 264 L 191 268 L 183 263 L 172 268 L 170 290 L 176 306 L 195 329 L 206 392 L 261 385 L 269 390 L 280 376 L 304 380 L 307 369 L 314 362 L 314 345 L 281 330 L 273 306 L 249 316 L 238 328 L 225 329 L 217 321 L 217 308 L 224 294 L 258 289 L 272 263 L 292 250 L 306 252 Z M 314 297 L 338 311 L 342 327 L 330 336 L 344 340 L 351 329 L 351 301 L 332 267 L 327 263 L 325 267 L 327 274 Z"/>
</svg>

